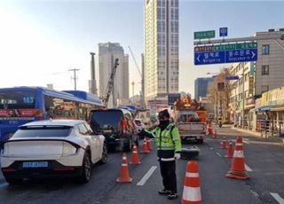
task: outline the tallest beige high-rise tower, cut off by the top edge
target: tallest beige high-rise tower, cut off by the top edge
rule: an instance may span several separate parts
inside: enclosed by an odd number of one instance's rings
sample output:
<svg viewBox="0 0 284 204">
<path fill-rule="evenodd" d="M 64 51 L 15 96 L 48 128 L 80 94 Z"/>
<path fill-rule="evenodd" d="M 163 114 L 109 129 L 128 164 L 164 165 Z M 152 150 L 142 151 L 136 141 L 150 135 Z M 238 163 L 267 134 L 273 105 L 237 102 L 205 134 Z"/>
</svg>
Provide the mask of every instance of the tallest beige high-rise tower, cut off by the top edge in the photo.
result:
<svg viewBox="0 0 284 204">
<path fill-rule="evenodd" d="M 145 3 L 145 99 L 178 92 L 178 0 Z"/>
</svg>

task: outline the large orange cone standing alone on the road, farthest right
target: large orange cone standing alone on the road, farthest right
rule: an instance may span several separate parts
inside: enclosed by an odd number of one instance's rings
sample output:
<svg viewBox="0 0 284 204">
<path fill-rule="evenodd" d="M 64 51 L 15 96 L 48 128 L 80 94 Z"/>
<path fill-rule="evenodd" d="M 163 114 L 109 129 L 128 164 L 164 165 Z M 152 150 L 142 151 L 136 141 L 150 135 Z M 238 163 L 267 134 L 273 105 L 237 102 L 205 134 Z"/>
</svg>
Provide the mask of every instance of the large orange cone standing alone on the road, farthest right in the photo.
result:
<svg viewBox="0 0 284 204">
<path fill-rule="evenodd" d="M 242 138 L 239 136 L 233 151 L 233 161 L 231 169 L 225 175 L 225 177 L 236 178 L 236 179 L 248 179 L 248 174 L 245 169 L 244 153 L 242 148 Z"/>
</svg>

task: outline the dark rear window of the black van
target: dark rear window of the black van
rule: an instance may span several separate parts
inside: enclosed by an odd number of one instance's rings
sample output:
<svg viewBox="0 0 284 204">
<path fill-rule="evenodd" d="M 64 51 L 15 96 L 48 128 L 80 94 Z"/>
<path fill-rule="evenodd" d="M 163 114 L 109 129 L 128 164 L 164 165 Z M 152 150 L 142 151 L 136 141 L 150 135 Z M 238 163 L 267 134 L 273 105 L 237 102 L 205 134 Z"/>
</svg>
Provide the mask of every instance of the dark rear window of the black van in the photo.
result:
<svg viewBox="0 0 284 204">
<path fill-rule="evenodd" d="M 117 129 L 122 120 L 120 111 L 95 111 L 91 114 L 94 129 Z"/>
</svg>

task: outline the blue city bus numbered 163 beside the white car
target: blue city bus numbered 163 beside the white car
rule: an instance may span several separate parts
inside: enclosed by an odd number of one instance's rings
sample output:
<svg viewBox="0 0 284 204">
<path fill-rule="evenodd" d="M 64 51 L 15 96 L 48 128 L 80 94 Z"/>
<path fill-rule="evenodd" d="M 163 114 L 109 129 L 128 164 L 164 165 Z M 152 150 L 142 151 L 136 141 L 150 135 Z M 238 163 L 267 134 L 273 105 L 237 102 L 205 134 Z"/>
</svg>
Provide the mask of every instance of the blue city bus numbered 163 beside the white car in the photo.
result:
<svg viewBox="0 0 284 204">
<path fill-rule="evenodd" d="M 87 120 L 91 110 L 103 107 L 97 96 L 81 90 L 0 89 L 0 149 L 22 124 L 50 118 Z"/>
</svg>

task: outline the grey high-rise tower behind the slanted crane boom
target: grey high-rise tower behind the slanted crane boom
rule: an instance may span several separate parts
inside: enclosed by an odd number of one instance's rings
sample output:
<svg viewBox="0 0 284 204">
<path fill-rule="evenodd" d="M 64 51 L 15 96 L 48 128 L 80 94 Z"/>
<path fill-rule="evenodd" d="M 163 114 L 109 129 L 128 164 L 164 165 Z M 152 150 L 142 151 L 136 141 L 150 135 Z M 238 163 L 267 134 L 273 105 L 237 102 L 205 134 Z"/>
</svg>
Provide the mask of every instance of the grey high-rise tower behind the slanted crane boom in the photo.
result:
<svg viewBox="0 0 284 204">
<path fill-rule="evenodd" d="M 99 96 L 106 94 L 106 85 L 114 67 L 114 59 L 119 66 L 114 77 L 114 89 L 108 106 L 120 106 L 129 103 L 129 57 L 124 55 L 120 43 L 99 43 Z"/>
</svg>

